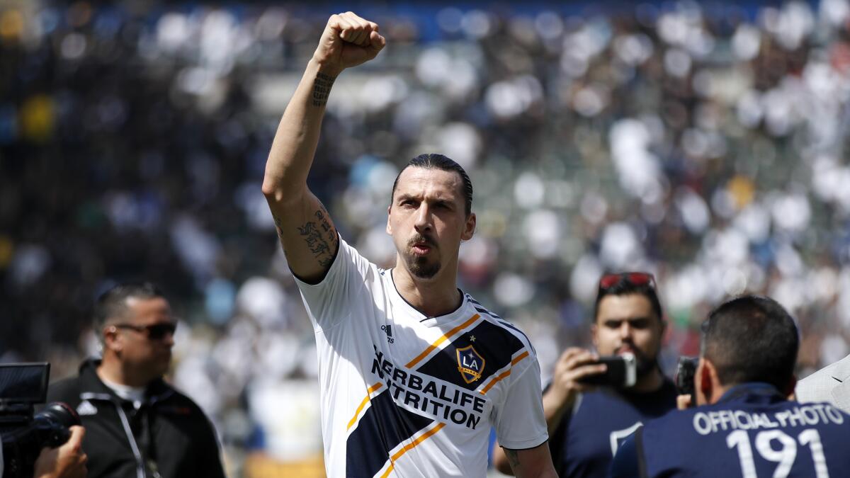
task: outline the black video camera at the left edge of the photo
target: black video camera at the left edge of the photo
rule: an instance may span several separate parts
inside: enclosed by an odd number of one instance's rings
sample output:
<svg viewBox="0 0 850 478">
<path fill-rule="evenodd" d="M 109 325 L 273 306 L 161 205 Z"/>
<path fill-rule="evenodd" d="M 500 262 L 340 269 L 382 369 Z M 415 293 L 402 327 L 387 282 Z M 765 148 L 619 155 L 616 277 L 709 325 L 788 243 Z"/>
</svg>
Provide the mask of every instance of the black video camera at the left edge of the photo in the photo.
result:
<svg viewBox="0 0 850 478">
<path fill-rule="evenodd" d="M 71 437 L 80 417 L 56 401 L 35 413 L 48 394 L 49 363 L 0 364 L 0 440 L 3 478 L 31 478 L 44 447 L 59 447 Z"/>
</svg>

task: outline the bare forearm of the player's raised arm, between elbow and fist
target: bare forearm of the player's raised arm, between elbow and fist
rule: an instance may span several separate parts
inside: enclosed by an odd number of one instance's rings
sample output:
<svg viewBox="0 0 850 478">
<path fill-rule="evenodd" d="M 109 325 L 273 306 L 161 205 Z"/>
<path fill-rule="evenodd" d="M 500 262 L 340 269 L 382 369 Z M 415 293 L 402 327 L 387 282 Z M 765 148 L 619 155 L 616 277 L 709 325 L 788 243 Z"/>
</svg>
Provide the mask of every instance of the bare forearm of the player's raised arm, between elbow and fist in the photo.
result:
<svg viewBox="0 0 850 478">
<path fill-rule="evenodd" d="M 289 202 L 303 196 L 313 164 L 325 105 L 338 71 L 310 60 L 292 95 L 271 145 L 263 193 L 269 201 Z"/>
</svg>

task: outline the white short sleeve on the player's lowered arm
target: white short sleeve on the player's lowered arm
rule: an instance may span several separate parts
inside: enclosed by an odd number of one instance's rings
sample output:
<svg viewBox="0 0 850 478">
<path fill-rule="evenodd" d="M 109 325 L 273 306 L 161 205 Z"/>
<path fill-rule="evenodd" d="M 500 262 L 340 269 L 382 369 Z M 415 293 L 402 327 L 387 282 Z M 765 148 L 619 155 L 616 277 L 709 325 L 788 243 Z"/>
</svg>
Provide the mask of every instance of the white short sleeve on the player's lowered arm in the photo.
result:
<svg viewBox="0 0 850 478">
<path fill-rule="evenodd" d="M 511 374 L 517 375 L 507 390 L 504 402 L 496 410 L 494 425 L 501 447 L 524 450 L 540 446 L 549 435 L 543 416 L 537 357 L 530 354 L 528 360 L 519 361 L 515 368 L 517 370 L 512 370 Z"/>
</svg>

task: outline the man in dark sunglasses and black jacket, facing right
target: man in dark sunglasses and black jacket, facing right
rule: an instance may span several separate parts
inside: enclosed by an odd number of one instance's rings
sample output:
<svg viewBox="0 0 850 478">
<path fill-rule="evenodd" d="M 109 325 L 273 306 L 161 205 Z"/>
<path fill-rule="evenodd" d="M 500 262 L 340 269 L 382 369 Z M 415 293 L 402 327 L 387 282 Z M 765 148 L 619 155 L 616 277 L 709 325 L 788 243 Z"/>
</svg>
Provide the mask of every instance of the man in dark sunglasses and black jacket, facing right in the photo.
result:
<svg viewBox="0 0 850 478">
<path fill-rule="evenodd" d="M 150 283 L 112 287 L 95 304 L 103 358 L 83 362 L 79 376 L 48 390 L 48 401 L 64 401 L 82 419 L 90 478 L 224 476 L 212 424 L 162 379 L 176 327 Z"/>
</svg>

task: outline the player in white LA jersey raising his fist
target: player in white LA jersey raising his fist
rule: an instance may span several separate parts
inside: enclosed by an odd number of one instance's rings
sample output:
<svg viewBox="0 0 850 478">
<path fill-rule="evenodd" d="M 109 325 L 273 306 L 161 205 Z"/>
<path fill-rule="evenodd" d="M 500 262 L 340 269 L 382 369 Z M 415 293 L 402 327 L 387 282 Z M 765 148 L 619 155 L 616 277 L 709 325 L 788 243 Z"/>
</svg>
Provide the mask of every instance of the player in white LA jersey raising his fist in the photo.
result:
<svg viewBox="0 0 850 478">
<path fill-rule="evenodd" d="M 280 121 L 263 193 L 319 350 L 327 475 L 484 476 L 490 426 L 520 476 L 555 476 L 540 367 L 523 333 L 456 286 L 473 236 L 472 183 L 456 162 L 416 156 L 395 180 L 393 269 L 343 241 L 307 187 L 334 80 L 375 58 L 378 26 L 327 22 Z"/>
</svg>

